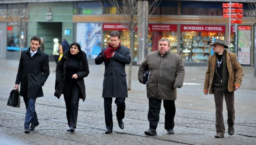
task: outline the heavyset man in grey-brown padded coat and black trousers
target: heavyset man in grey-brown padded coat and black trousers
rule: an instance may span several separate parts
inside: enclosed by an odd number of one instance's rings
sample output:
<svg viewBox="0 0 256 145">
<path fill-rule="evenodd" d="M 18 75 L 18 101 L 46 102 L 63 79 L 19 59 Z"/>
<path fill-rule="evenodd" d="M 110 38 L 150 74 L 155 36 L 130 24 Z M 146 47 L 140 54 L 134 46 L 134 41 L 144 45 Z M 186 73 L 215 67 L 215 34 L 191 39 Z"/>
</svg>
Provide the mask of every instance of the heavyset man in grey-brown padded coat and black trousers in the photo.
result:
<svg viewBox="0 0 256 145">
<path fill-rule="evenodd" d="M 156 127 L 162 100 L 164 102 L 165 122 L 164 128 L 168 134 L 174 134 L 174 116 L 176 112 L 174 100 L 177 98 L 177 88 L 184 82 L 185 70 L 179 55 L 169 51 L 170 41 L 160 39 L 158 51 L 149 53 L 138 71 L 138 80 L 143 82 L 143 75 L 149 71 L 147 82 L 147 97 L 149 102 L 148 121 L 149 130 L 146 135 L 157 135 Z"/>
</svg>

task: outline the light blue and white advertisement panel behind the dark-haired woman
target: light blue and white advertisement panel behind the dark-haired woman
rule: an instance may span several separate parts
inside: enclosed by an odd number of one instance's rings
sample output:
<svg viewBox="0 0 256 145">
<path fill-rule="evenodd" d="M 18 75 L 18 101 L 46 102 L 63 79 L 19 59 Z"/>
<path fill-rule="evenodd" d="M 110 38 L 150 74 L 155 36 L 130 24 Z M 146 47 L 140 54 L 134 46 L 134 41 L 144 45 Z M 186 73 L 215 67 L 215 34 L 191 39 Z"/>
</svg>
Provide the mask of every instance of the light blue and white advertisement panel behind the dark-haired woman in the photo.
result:
<svg viewBox="0 0 256 145">
<path fill-rule="evenodd" d="M 76 42 L 86 53 L 87 58 L 96 58 L 101 51 L 102 25 L 100 23 L 78 23 Z"/>
</svg>

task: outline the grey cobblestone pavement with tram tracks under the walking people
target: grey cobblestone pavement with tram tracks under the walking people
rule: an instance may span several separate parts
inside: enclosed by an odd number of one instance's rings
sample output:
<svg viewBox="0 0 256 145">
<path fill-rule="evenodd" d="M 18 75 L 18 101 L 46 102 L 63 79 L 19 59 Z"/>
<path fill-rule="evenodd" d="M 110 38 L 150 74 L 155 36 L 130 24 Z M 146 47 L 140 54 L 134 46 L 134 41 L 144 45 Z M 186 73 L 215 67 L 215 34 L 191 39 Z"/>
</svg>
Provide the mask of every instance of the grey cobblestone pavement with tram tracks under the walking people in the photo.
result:
<svg viewBox="0 0 256 145">
<path fill-rule="evenodd" d="M 66 131 L 66 108 L 63 96 L 58 100 L 54 94 L 56 65 L 50 62 L 50 76 L 43 90 L 44 97 L 36 100 L 36 112 L 40 125 L 34 131 L 24 133 L 25 104 L 21 98 L 20 108 L 7 106 L 10 91 L 14 87 L 18 61 L 0 59 L 0 145 L 255 145 L 256 144 L 256 78 L 253 67 L 244 66 L 241 88 L 235 92 L 235 134 L 227 133 L 221 139 L 214 138 L 215 106 L 213 95 L 202 92 L 206 67 L 185 67 L 184 86 L 178 89 L 174 135 L 164 129 L 164 109 L 160 112 L 157 133 L 148 137 L 148 99 L 146 86 L 137 79 L 138 66 L 132 67 L 132 91 L 126 99 L 124 129 L 118 127 L 116 106 L 113 102 L 113 133 L 106 135 L 102 81 L 104 65 L 89 65 L 90 74 L 85 78 L 86 100 L 79 102 L 77 129 Z M 126 72 L 128 73 L 128 67 Z M 225 104 L 225 103 L 224 103 Z M 225 108 L 225 107 L 224 107 Z M 227 120 L 226 109 L 223 111 Z"/>
</svg>

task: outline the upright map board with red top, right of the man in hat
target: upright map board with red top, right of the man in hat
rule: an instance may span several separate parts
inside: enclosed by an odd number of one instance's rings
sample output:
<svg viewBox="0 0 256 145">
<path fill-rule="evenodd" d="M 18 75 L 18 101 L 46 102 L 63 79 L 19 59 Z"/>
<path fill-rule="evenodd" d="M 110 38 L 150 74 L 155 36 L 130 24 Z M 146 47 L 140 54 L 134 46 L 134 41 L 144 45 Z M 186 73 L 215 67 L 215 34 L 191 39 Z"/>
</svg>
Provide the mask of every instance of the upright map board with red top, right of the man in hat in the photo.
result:
<svg viewBox="0 0 256 145">
<path fill-rule="evenodd" d="M 251 64 L 251 26 L 238 26 L 238 60 L 241 65 Z"/>
</svg>

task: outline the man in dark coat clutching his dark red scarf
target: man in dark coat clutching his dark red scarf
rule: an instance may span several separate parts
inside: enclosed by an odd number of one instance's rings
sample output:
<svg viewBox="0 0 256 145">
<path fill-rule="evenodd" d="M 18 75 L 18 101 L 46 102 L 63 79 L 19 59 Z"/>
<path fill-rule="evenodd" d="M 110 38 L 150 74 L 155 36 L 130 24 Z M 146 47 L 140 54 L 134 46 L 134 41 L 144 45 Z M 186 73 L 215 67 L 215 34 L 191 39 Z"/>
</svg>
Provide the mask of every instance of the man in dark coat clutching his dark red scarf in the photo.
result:
<svg viewBox="0 0 256 145">
<path fill-rule="evenodd" d="M 116 119 L 121 129 L 124 129 L 125 98 L 128 97 L 125 64 L 131 63 L 130 50 L 120 45 L 120 33 L 113 31 L 110 33 L 110 43 L 104 47 L 96 57 L 96 65 L 105 64 L 103 91 L 105 110 L 106 134 L 112 133 L 112 98 L 116 98 L 115 103 Z"/>
</svg>

